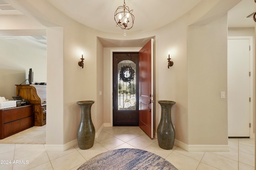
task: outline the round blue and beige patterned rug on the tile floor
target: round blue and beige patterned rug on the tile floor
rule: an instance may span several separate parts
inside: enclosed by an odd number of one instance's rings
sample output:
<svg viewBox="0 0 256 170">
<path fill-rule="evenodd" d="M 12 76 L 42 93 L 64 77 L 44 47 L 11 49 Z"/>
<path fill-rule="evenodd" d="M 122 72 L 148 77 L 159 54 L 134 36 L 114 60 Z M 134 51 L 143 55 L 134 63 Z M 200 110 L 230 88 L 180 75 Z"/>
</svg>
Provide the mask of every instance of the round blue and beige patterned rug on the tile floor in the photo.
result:
<svg viewBox="0 0 256 170">
<path fill-rule="evenodd" d="M 154 153 L 140 149 L 116 149 L 94 156 L 77 170 L 178 170 Z"/>
</svg>

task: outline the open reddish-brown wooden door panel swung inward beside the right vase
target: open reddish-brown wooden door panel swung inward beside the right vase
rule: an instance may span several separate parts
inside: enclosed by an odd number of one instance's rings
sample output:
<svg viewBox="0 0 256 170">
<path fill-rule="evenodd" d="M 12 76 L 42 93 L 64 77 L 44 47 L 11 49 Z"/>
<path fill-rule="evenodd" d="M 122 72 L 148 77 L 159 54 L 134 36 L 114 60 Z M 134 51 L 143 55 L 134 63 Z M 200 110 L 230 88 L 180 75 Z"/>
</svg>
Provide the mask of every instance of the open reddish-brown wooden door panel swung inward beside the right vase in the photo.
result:
<svg viewBox="0 0 256 170">
<path fill-rule="evenodd" d="M 153 39 L 139 51 L 139 126 L 153 139 Z"/>
</svg>

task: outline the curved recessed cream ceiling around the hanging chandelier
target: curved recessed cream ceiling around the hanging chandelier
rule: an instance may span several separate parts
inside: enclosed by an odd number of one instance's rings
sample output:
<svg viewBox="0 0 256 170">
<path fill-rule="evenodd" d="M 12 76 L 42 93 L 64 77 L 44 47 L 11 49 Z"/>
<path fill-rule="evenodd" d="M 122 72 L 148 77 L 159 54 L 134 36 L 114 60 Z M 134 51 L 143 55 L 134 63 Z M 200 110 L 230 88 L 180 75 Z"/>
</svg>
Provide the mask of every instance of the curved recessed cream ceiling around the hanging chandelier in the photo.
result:
<svg viewBox="0 0 256 170">
<path fill-rule="evenodd" d="M 47 0 L 70 18 L 100 31 L 123 32 L 116 27 L 114 13 L 123 0 Z M 201 0 L 126 0 L 133 10 L 134 25 L 127 33 L 162 27 L 186 14 Z"/>
</svg>

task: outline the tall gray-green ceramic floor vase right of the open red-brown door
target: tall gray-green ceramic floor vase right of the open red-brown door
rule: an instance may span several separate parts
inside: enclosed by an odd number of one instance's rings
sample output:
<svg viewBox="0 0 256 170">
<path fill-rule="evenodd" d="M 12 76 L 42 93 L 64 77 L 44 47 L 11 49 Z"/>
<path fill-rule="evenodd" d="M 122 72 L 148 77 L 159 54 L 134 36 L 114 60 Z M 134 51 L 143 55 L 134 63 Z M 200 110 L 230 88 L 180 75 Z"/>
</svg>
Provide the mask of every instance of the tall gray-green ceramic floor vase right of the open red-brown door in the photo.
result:
<svg viewBox="0 0 256 170">
<path fill-rule="evenodd" d="M 158 145 L 162 149 L 172 149 L 175 140 L 175 130 L 172 125 L 171 109 L 176 103 L 168 100 L 160 100 L 158 103 L 161 106 L 161 120 L 157 127 Z"/>
</svg>

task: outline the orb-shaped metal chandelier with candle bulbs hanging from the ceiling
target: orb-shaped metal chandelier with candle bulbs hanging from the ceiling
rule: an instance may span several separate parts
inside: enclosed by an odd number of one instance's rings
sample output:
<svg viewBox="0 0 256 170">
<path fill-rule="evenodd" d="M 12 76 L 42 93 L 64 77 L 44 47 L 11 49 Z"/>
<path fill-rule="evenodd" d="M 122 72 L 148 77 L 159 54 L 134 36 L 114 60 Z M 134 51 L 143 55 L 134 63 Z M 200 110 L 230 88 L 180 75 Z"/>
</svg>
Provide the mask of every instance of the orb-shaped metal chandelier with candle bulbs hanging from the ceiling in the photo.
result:
<svg viewBox="0 0 256 170">
<path fill-rule="evenodd" d="M 119 6 L 116 9 L 114 19 L 116 21 L 116 27 L 119 26 L 121 29 L 131 29 L 133 26 L 134 22 L 134 16 L 132 15 L 133 10 L 130 10 L 128 6 L 125 4 L 124 0 L 124 5 Z"/>
</svg>

